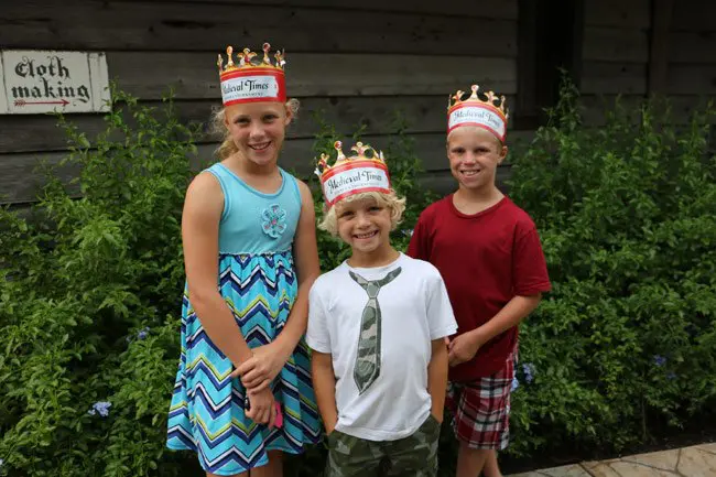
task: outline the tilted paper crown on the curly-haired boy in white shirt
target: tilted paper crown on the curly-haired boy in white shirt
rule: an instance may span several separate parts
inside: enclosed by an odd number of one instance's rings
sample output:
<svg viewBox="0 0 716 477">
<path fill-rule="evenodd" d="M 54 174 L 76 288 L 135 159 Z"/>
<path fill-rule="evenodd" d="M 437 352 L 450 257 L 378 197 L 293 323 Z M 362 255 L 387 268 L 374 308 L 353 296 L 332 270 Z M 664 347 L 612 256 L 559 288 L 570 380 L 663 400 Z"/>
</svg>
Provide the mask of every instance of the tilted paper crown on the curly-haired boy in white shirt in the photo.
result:
<svg viewBox="0 0 716 477">
<path fill-rule="evenodd" d="M 362 142 L 357 142 L 350 148 L 356 154 L 347 158 L 343 153 L 340 141 L 334 142 L 333 147 L 338 152 L 336 162 L 328 165 L 330 156 L 321 154 L 315 171 L 321 178 L 321 188 L 328 207 L 354 194 L 364 192 L 389 194 L 391 192 L 390 174 L 382 152 L 376 151 Z"/>
</svg>

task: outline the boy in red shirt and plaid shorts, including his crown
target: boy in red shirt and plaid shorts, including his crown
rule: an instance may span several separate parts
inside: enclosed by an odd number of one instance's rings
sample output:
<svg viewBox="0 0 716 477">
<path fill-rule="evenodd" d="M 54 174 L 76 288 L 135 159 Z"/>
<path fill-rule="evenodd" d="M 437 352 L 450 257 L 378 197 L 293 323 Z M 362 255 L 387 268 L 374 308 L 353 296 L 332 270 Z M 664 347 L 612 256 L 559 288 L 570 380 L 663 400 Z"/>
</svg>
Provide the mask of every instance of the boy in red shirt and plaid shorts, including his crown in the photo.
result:
<svg viewBox="0 0 716 477">
<path fill-rule="evenodd" d="M 445 281 L 458 333 L 449 343 L 446 405 L 459 441 L 457 477 L 500 477 L 509 442 L 518 325 L 551 288 L 530 216 L 495 185 L 507 155 L 505 97 L 451 97 L 447 158 L 458 189 L 420 216 L 408 254 Z"/>
</svg>

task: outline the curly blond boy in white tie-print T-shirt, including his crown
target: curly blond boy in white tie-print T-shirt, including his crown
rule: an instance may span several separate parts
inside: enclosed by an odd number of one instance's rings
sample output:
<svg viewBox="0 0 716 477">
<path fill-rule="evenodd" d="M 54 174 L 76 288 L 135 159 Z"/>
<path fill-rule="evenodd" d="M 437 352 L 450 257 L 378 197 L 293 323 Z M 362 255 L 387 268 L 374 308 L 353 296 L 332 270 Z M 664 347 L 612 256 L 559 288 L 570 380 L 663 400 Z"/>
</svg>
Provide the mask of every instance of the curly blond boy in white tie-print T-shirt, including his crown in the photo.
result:
<svg viewBox="0 0 716 477">
<path fill-rule="evenodd" d="M 435 476 L 447 383 L 445 337 L 455 334 L 445 284 L 430 263 L 397 251 L 390 231 L 405 199 L 390 187 L 382 153 L 336 143 L 323 155 L 321 227 L 351 256 L 311 289 L 306 340 L 328 435 L 328 477 Z"/>
</svg>

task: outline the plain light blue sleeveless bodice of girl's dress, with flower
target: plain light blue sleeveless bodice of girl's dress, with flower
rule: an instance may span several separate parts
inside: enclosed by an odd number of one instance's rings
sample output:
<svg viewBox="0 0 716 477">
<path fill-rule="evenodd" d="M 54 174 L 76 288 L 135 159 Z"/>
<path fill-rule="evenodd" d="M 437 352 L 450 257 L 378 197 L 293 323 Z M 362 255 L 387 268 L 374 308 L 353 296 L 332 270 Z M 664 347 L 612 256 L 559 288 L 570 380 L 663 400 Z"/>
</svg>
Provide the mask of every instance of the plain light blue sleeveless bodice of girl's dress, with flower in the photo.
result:
<svg viewBox="0 0 716 477">
<path fill-rule="evenodd" d="M 282 169 L 281 186 L 264 194 L 249 186 L 226 165 L 206 171 L 221 185 L 224 212 L 219 221 L 219 253 L 272 253 L 291 250 L 301 215 L 295 177 Z"/>
</svg>

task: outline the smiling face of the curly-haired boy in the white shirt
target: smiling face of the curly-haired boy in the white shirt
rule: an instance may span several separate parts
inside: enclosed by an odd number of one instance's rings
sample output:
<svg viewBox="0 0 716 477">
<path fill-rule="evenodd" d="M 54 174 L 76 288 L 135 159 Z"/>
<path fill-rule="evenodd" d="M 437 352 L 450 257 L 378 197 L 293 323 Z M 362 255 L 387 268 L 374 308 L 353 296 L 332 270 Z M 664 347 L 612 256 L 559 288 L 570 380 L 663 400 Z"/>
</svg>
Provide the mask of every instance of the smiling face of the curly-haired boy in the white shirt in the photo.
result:
<svg viewBox="0 0 716 477">
<path fill-rule="evenodd" d="M 390 247 L 390 208 L 375 198 L 336 204 L 338 235 L 355 253 L 371 253 Z"/>
</svg>

